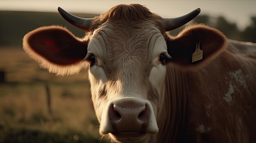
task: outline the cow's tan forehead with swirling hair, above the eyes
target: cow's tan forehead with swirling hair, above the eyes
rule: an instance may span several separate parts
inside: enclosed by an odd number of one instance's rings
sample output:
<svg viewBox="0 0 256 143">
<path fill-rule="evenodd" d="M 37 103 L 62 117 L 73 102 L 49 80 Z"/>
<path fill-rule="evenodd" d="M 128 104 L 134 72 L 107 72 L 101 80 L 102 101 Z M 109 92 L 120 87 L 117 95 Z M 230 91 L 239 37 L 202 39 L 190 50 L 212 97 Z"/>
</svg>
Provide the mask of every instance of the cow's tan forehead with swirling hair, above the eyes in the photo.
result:
<svg viewBox="0 0 256 143">
<path fill-rule="evenodd" d="M 112 57 L 136 56 L 137 53 L 143 58 L 148 58 L 159 36 L 162 36 L 159 29 L 150 22 L 106 22 L 94 31 L 91 42 L 97 44 L 96 47 L 90 44 L 88 51 L 105 61 Z"/>
</svg>

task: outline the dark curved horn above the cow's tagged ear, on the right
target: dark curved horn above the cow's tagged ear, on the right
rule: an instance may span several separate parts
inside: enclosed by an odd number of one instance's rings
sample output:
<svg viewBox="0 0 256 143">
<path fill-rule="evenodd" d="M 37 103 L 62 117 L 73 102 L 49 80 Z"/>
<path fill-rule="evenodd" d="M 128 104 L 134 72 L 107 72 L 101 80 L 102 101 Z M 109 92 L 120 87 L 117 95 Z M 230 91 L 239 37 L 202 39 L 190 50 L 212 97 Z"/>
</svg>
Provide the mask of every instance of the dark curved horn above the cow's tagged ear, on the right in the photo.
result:
<svg viewBox="0 0 256 143">
<path fill-rule="evenodd" d="M 165 31 L 171 31 L 173 29 L 179 28 L 180 26 L 190 22 L 200 13 L 200 11 L 201 11 L 200 8 L 198 8 L 178 18 L 162 18 L 162 22 L 166 27 Z"/>
</svg>

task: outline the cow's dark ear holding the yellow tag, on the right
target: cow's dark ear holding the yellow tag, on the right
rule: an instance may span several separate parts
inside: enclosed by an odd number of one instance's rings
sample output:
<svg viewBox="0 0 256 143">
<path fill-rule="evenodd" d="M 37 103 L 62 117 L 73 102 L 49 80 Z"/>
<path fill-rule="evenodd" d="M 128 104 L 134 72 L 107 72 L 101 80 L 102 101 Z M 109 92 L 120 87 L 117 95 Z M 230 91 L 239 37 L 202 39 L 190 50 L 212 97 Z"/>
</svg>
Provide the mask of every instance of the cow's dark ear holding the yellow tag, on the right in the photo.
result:
<svg viewBox="0 0 256 143">
<path fill-rule="evenodd" d="M 223 33 L 203 24 L 188 26 L 176 37 L 166 37 L 166 44 L 172 57 L 167 61 L 188 70 L 206 65 L 225 51 L 228 45 Z M 196 52 L 197 46 L 201 52 Z"/>
</svg>

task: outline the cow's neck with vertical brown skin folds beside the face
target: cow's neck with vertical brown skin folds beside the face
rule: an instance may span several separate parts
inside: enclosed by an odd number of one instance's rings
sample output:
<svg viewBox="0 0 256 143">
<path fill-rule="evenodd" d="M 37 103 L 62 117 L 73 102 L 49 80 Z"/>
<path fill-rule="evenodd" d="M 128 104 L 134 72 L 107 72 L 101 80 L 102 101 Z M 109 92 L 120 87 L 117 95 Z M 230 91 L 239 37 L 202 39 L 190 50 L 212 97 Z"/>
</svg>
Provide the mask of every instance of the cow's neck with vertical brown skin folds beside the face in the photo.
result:
<svg viewBox="0 0 256 143">
<path fill-rule="evenodd" d="M 157 143 L 175 142 L 182 137 L 186 112 L 186 74 L 166 65 L 165 99 L 160 115 Z"/>
</svg>

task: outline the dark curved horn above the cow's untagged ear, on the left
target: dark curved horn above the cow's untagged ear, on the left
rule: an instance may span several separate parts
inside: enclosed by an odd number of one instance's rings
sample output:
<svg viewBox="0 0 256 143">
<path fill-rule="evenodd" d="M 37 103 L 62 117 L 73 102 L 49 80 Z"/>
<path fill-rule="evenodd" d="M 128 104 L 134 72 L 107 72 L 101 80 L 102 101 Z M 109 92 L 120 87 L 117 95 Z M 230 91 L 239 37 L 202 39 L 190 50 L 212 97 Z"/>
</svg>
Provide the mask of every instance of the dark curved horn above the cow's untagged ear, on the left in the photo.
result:
<svg viewBox="0 0 256 143">
<path fill-rule="evenodd" d="M 75 15 L 68 13 L 67 11 L 64 11 L 60 7 L 58 7 L 58 12 L 65 20 L 67 20 L 67 22 L 76 26 L 79 29 L 89 31 L 90 26 L 92 25 L 93 18 L 79 18 Z"/>
</svg>

